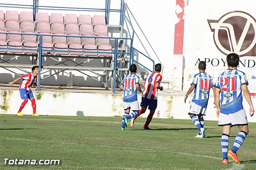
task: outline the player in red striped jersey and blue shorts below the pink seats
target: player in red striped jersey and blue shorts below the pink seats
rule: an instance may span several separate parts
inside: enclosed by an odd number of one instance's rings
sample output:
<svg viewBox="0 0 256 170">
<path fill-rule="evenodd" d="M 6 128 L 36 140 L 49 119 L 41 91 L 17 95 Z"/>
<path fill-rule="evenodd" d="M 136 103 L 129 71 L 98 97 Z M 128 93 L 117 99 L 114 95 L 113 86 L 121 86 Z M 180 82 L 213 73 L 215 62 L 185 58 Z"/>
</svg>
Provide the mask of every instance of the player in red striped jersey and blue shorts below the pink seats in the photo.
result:
<svg viewBox="0 0 256 170">
<path fill-rule="evenodd" d="M 39 74 L 39 67 L 33 66 L 32 73 L 28 73 L 23 75 L 22 77 L 18 77 L 17 79 L 9 83 L 12 86 L 14 83 L 22 79 L 19 90 L 20 90 L 20 97 L 24 101 L 21 103 L 20 109 L 16 115 L 23 116 L 21 111 L 24 108 L 24 106 L 28 103 L 28 99 L 30 99 L 30 101 L 32 102 L 33 116 L 39 116 L 38 114 L 36 114 L 36 101 L 31 91 L 32 85 L 36 86 L 36 90 L 38 89 L 38 86 L 36 85 L 36 76 L 38 74 Z"/>
</svg>

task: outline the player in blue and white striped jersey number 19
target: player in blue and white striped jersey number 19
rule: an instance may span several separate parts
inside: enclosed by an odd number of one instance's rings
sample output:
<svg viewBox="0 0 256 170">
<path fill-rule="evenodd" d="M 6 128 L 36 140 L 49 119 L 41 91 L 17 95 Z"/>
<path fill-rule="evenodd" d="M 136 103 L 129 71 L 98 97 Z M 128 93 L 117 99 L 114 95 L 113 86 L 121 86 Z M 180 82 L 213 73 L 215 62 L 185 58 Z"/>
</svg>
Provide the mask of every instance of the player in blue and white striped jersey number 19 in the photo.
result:
<svg viewBox="0 0 256 170">
<path fill-rule="evenodd" d="M 140 77 L 136 75 L 137 67 L 135 64 L 130 65 L 130 74 L 124 77 L 120 89 L 124 91 L 124 115 L 122 117 L 121 130 L 128 127 L 128 119 L 136 117 L 139 113 L 139 103 L 137 99 L 137 90 L 142 94 L 140 89 Z M 132 113 L 130 113 L 132 109 Z M 130 114 L 129 114 L 130 113 Z"/>
</svg>

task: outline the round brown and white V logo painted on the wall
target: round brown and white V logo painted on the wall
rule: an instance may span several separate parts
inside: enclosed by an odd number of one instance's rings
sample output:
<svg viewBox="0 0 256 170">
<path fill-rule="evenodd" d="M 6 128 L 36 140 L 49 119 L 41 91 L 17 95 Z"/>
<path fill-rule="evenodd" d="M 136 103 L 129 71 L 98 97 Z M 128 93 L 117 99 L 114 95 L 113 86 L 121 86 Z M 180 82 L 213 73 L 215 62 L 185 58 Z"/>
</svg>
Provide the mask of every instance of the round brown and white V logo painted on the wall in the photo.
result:
<svg viewBox="0 0 256 170">
<path fill-rule="evenodd" d="M 256 20 L 246 12 L 234 11 L 219 20 L 207 20 L 216 47 L 225 55 L 256 56 Z"/>
</svg>

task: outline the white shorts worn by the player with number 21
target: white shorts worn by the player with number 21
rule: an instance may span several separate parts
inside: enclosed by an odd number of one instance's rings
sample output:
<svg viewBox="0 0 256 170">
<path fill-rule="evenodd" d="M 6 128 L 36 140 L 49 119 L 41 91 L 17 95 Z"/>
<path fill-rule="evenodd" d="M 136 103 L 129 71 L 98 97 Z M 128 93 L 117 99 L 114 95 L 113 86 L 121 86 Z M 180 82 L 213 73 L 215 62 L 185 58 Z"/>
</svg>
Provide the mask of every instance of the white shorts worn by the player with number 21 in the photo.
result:
<svg viewBox="0 0 256 170">
<path fill-rule="evenodd" d="M 219 126 L 248 125 L 245 110 L 242 109 L 242 110 L 237 111 L 235 113 L 229 113 L 229 114 L 220 113 L 218 125 Z"/>
</svg>

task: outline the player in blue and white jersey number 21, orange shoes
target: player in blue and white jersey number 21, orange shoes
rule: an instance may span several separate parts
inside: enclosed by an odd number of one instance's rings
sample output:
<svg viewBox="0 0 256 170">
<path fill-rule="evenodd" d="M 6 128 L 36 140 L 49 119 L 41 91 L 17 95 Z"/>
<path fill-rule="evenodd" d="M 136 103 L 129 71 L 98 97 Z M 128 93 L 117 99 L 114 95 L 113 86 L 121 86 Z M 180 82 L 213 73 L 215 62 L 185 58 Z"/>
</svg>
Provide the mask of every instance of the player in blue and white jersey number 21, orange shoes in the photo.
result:
<svg viewBox="0 0 256 170">
<path fill-rule="evenodd" d="M 216 81 L 215 102 L 217 107 L 218 125 L 222 126 L 221 148 L 223 154 L 223 164 L 228 164 L 228 156 L 235 163 L 241 164 L 236 151 L 244 142 L 249 132 L 248 121 L 242 105 L 242 92 L 250 105 L 250 116 L 254 114 L 254 108 L 250 92 L 247 88 L 248 81 L 244 72 L 237 70 L 239 55 L 230 53 L 227 55 L 228 69 L 221 73 Z M 236 136 L 233 147 L 228 151 L 228 137 L 231 126 L 238 125 L 240 132 Z"/>
</svg>

